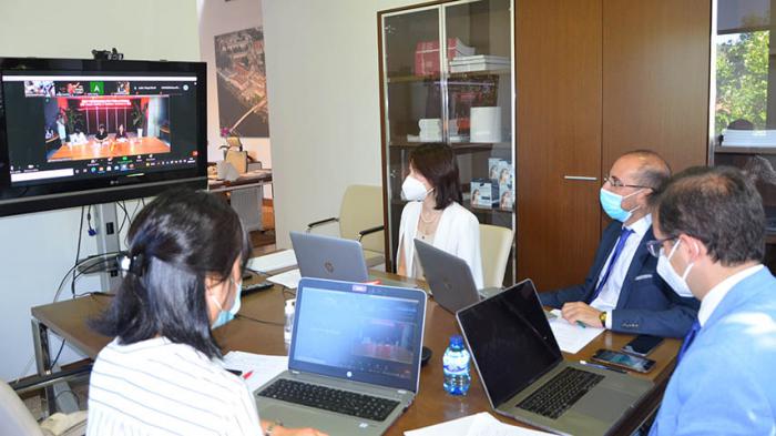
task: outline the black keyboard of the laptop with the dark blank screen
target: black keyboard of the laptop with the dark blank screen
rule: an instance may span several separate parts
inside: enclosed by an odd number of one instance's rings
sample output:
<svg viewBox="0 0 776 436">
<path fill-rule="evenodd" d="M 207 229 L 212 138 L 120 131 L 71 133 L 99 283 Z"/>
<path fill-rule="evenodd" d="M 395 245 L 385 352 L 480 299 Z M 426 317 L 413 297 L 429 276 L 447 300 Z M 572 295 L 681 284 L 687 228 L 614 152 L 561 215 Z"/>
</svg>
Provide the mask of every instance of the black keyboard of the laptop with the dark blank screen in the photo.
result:
<svg viewBox="0 0 776 436">
<path fill-rule="evenodd" d="M 602 375 L 566 367 L 520 402 L 518 407 L 557 419 L 602 379 Z"/>
</svg>

